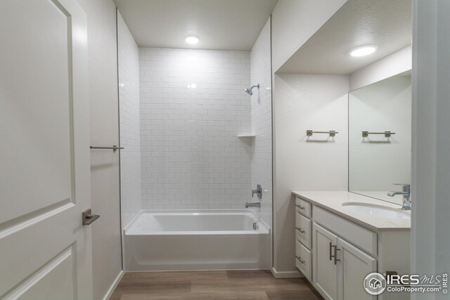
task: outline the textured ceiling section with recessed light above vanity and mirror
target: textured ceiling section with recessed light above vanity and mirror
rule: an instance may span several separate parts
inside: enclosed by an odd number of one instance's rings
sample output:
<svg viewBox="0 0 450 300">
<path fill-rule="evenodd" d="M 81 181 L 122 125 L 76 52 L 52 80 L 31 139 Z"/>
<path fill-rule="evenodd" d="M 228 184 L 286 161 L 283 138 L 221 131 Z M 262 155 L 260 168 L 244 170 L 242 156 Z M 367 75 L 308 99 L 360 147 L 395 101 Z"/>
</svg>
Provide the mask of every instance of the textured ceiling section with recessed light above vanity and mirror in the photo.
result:
<svg viewBox="0 0 450 300">
<path fill-rule="evenodd" d="M 277 72 L 351 74 L 411 44 L 411 0 L 349 0 Z M 377 44 L 355 58 L 349 50 Z"/>
</svg>

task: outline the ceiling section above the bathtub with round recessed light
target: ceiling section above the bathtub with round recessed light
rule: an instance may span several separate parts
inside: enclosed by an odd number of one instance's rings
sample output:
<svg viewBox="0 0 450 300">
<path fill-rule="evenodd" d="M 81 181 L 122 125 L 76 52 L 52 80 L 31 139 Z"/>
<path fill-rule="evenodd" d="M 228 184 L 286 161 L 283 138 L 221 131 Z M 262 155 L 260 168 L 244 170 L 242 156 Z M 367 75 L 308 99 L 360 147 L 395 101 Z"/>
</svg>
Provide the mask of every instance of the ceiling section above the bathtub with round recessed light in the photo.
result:
<svg viewBox="0 0 450 300">
<path fill-rule="evenodd" d="M 250 51 L 278 0 L 114 0 L 140 47 Z M 196 45 L 185 37 L 200 37 Z"/>
</svg>

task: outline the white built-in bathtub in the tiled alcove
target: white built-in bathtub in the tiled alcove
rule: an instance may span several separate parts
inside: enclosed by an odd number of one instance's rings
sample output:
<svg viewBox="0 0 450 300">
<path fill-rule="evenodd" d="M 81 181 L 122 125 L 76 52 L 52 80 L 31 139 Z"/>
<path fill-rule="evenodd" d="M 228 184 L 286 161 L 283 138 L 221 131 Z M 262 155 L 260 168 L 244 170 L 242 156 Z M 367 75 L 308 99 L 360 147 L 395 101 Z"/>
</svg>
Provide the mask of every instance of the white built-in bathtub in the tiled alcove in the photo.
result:
<svg viewBox="0 0 450 300">
<path fill-rule="evenodd" d="M 141 211 L 124 230 L 125 270 L 268 269 L 271 235 L 250 209 Z"/>
</svg>

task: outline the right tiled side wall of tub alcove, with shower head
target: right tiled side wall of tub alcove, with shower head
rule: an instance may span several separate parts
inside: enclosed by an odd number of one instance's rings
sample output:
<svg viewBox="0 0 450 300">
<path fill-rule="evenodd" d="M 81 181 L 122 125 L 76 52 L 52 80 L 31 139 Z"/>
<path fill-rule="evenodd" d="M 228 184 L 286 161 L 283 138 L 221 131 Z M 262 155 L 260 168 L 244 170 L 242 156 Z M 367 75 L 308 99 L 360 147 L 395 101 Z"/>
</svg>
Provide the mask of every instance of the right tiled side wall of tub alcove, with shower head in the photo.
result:
<svg viewBox="0 0 450 300">
<path fill-rule="evenodd" d="M 264 25 L 250 53 L 252 133 L 255 133 L 252 159 L 252 188 L 262 185 L 261 219 L 272 227 L 272 91 L 270 18 Z M 256 197 L 256 196 L 255 196 Z M 255 201 L 257 198 L 255 198 Z"/>
</svg>

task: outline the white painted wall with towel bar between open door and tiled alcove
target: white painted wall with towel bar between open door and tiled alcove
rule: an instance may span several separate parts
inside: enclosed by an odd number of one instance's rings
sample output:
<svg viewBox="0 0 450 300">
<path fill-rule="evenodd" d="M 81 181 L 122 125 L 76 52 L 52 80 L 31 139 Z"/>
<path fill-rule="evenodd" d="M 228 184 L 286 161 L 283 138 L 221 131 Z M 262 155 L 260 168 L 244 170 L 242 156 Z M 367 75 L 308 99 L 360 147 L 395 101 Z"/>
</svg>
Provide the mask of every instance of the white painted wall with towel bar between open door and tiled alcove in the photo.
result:
<svg viewBox="0 0 450 300">
<path fill-rule="evenodd" d="M 119 145 L 116 9 L 111 0 L 78 0 L 87 15 L 91 145 Z M 119 152 L 91 150 L 94 299 L 122 270 Z"/>
</svg>

